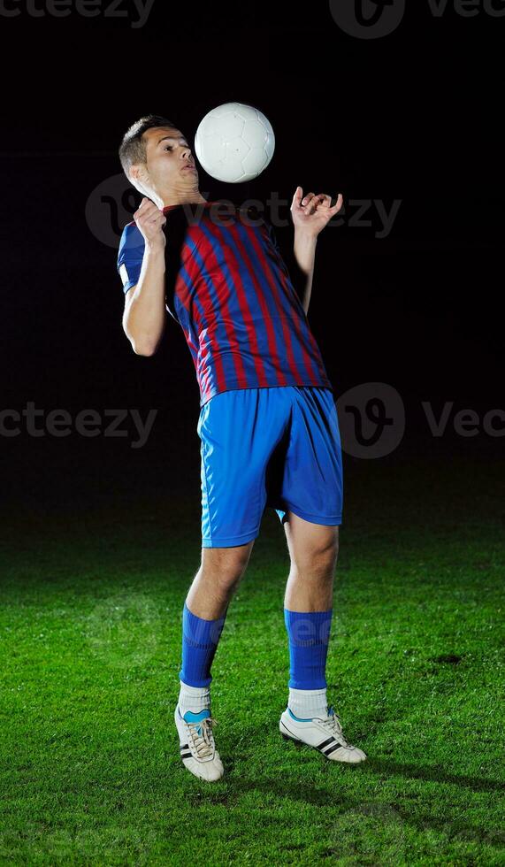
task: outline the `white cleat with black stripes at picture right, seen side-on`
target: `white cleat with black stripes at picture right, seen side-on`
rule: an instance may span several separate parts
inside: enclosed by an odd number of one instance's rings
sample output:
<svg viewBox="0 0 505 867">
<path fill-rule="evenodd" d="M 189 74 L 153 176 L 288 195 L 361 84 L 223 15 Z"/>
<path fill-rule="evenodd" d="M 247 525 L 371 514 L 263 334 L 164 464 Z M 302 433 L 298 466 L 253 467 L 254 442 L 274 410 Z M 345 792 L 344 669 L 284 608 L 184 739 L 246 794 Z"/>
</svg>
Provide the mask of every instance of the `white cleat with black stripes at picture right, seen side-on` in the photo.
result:
<svg viewBox="0 0 505 867">
<path fill-rule="evenodd" d="M 305 743 L 318 749 L 323 756 L 335 762 L 356 764 L 363 762 L 366 754 L 363 749 L 353 747 L 345 739 L 340 725 L 340 717 L 333 707 L 326 717 L 313 717 L 301 720 L 289 708 L 284 710 L 279 720 L 279 731 L 286 740 Z"/>
</svg>

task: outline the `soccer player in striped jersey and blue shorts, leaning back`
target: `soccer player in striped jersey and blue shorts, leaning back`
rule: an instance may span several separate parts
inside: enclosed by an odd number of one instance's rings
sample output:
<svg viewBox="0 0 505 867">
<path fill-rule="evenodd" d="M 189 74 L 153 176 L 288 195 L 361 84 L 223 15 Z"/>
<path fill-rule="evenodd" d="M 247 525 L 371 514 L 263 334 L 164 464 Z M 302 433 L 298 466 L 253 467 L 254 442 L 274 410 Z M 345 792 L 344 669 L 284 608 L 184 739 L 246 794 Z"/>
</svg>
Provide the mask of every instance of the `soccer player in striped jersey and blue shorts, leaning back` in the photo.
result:
<svg viewBox="0 0 505 867">
<path fill-rule="evenodd" d="M 326 700 L 325 665 L 342 514 L 340 432 L 332 383 L 311 332 L 316 242 L 340 211 L 325 194 L 291 204 L 297 295 L 272 225 L 248 209 L 207 201 L 187 139 L 149 115 L 119 148 L 143 194 L 121 236 L 123 328 L 151 356 L 166 313 L 179 322 L 200 390 L 202 562 L 182 610 L 180 756 L 196 777 L 222 777 L 210 715 L 210 666 L 265 506 L 284 526 L 291 569 L 284 598 L 290 677 L 280 733 L 328 759 L 362 762 Z M 247 660 L 246 660 L 247 663 Z"/>
</svg>

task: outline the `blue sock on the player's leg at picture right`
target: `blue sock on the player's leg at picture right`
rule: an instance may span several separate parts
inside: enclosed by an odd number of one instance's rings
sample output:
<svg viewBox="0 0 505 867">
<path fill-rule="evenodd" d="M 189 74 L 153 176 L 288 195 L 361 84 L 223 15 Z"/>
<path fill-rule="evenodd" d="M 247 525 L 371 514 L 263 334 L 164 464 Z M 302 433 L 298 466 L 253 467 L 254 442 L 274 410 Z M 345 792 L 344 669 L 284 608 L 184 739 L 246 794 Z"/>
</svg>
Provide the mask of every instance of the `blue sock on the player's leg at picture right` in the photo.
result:
<svg viewBox="0 0 505 867">
<path fill-rule="evenodd" d="M 326 657 L 333 608 L 327 611 L 284 609 L 289 641 L 289 681 L 295 689 L 325 689 Z"/>
</svg>

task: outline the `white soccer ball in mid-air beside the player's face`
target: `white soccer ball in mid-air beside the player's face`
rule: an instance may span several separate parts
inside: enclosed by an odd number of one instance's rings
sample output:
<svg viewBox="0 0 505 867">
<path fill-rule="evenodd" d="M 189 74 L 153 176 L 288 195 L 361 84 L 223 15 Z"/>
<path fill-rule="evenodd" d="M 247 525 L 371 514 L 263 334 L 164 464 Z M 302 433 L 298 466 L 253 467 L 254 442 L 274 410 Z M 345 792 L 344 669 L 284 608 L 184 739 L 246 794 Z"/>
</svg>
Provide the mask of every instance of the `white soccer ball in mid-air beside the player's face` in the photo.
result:
<svg viewBox="0 0 505 867">
<path fill-rule="evenodd" d="M 274 149 L 272 124 L 253 105 L 218 105 L 196 130 L 197 159 L 210 177 L 229 184 L 257 178 L 270 163 Z"/>
</svg>

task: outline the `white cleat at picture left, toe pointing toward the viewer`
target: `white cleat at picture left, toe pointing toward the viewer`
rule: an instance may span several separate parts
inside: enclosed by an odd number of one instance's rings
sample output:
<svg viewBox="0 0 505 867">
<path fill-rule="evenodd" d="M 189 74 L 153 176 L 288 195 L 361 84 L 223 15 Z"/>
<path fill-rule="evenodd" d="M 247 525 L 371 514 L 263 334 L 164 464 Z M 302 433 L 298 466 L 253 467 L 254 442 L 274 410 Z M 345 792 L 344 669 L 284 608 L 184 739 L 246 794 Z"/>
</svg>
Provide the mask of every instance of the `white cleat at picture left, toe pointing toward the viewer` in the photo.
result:
<svg viewBox="0 0 505 867">
<path fill-rule="evenodd" d="M 212 733 L 218 720 L 210 716 L 210 710 L 201 710 L 200 713 L 187 710 L 181 716 L 178 704 L 174 718 L 179 732 L 180 757 L 187 770 L 201 779 L 222 777 L 225 769 Z"/>
</svg>

